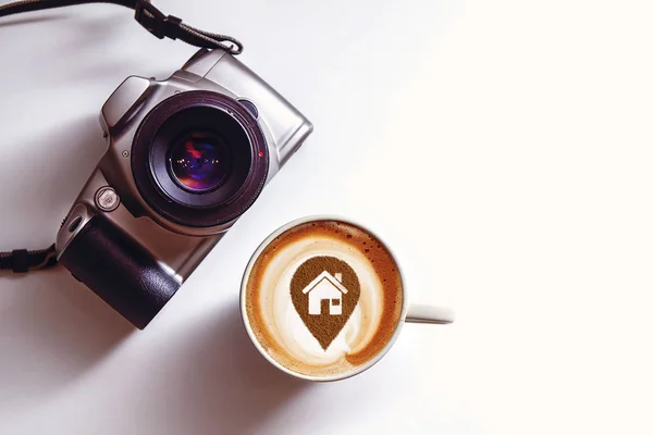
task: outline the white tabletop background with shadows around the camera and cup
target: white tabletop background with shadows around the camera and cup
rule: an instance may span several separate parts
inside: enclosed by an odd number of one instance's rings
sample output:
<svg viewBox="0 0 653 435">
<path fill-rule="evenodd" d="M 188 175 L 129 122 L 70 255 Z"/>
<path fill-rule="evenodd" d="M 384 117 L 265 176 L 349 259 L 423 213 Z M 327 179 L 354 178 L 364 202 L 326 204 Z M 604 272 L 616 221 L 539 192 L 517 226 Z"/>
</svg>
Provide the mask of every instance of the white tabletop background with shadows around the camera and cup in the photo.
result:
<svg viewBox="0 0 653 435">
<path fill-rule="evenodd" d="M 0 276 L 1 434 L 653 433 L 651 1 L 156 4 L 242 38 L 316 130 L 145 332 L 62 269 Z M 51 243 L 104 99 L 193 52 L 118 7 L 0 21 L 0 249 Z M 457 323 L 340 383 L 269 366 L 241 273 L 323 212 Z"/>
</svg>

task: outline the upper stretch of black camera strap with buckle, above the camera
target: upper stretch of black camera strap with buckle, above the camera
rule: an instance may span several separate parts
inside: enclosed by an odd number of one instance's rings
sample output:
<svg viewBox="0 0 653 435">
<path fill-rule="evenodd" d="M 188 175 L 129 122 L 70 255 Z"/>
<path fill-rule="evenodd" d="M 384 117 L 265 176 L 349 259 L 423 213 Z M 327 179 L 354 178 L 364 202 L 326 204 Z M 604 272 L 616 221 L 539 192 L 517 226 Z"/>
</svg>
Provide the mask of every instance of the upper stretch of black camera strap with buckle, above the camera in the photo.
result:
<svg viewBox="0 0 653 435">
<path fill-rule="evenodd" d="M 109 3 L 134 10 L 134 18 L 159 39 L 180 39 L 195 47 L 220 48 L 232 54 L 243 52 L 243 44 L 227 35 L 213 34 L 192 27 L 174 15 L 165 15 L 149 0 L 22 0 L 0 5 L 0 17 L 77 4 Z"/>
</svg>

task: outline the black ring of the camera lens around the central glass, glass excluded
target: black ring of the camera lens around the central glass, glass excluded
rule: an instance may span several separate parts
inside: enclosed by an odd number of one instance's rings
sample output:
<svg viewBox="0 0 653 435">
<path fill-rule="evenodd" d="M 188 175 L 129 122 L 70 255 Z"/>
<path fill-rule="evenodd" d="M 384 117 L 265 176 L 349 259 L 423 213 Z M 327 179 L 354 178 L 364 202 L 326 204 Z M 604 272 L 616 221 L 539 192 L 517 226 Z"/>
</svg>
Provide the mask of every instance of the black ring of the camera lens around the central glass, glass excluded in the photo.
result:
<svg viewBox="0 0 653 435">
<path fill-rule="evenodd" d="M 193 191 L 171 176 L 171 142 L 190 130 L 219 136 L 226 132 L 234 144 L 230 175 L 212 189 Z M 187 91 L 163 100 L 145 116 L 132 145 L 132 171 L 143 199 L 165 220 L 189 227 L 237 219 L 258 198 L 268 167 L 268 147 L 257 121 L 235 99 L 212 91 Z"/>
</svg>

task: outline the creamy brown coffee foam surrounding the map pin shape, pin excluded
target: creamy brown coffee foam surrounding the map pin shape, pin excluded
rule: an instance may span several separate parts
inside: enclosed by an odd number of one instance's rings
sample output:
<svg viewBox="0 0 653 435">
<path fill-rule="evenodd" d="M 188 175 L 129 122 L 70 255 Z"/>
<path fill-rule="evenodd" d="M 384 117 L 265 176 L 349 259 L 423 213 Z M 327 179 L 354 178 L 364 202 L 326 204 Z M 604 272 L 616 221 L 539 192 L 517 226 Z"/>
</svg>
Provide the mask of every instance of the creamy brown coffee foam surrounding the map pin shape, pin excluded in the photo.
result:
<svg viewBox="0 0 653 435">
<path fill-rule="evenodd" d="M 289 291 L 297 269 L 316 257 L 344 261 L 360 285 L 356 307 L 325 349 Z M 343 374 L 373 359 L 391 340 L 402 304 L 401 276 L 387 249 L 365 231 L 337 221 L 300 224 L 278 236 L 256 260 L 246 284 L 247 318 L 258 343 L 281 365 L 312 376 Z"/>
</svg>

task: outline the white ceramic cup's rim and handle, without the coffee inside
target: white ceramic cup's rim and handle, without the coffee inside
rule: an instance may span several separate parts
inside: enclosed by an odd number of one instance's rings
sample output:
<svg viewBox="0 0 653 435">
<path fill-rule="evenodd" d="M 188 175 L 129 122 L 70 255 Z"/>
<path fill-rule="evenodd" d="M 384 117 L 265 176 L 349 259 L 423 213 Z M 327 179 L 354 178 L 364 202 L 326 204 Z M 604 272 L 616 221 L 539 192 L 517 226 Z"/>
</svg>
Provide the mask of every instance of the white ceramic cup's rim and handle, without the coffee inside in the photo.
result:
<svg viewBox="0 0 653 435">
<path fill-rule="evenodd" d="M 402 315 L 399 316 L 399 319 L 397 321 L 397 325 L 395 327 L 392 338 L 387 341 L 385 347 L 381 351 L 379 351 L 379 353 L 377 353 L 377 356 L 374 358 L 370 359 L 368 362 L 366 362 L 365 364 L 361 364 L 360 366 L 356 368 L 355 370 L 352 370 L 352 371 L 348 371 L 348 372 L 342 373 L 342 374 L 330 375 L 330 376 L 311 376 L 311 375 L 306 375 L 303 373 L 297 373 L 297 372 L 294 372 L 294 371 L 287 369 L 286 366 L 282 365 L 281 363 L 276 362 L 272 357 L 270 357 L 270 355 L 268 355 L 266 349 L 263 349 L 263 347 L 259 344 L 254 331 L 251 330 L 251 325 L 250 325 L 249 319 L 247 316 L 247 300 L 246 300 L 246 298 L 247 298 L 247 295 L 246 295 L 247 294 L 247 291 L 246 291 L 247 282 L 249 279 L 249 274 L 251 272 L 251 268 L 256 263 L 256 260 L 259 258 L 261 252 L 268 247 L 268 245 L 276 238 L 276 236 L 279 236 L 280 234 L 284 233 L 285 231 L 293 228 L 297 225 L 301 225 L 307 222 L 313 222 L 313 221 L 337 221 L 337 222 L 347 223 L 347 224 L 357 226 L 357 227 L 361 228 L 362 231 L 365 231 L 366 233 L 375 237 L 379 241 L 381 241 L 381 244 L 383 244 L 383 246 L 385 246 L 385 248 L 387 249 L 387 251 L 391 253 L 392 258 L 394 259 L 395 263 L 397 264 L 397 272 L 399 273 L 399 277 L 402 279 L 402 288 L 403 288 Z M 321 215 L 321 214 L 300 217 L 295 221 L 288 222 L 287 224 L 278 228 L 274 233 L 270 234 L 268 236 L 268 238 L 266 238 L 259 245 L 257 250 L 254 252 L 254 254 L 249 259 L 249 262 L 247 263 L 247 268 L 245 269 L 245 273 L 243 275 L 243 281 L 241 283 L 241 316 L 243 319 L 243 323 L 245 324 L 245 330 L 247 330 L 247 334 L 249 335 L 249 338 L 251 339 L 251 343 L 254 343 L 254 346 L 258 349 L 258 351 L 268 361 L 270 361 L 270 363 L 272 365 L 276 366 L 279 370 L 281 370 L 292 376 L 295 376 L 295 377 L 298 377 L 301 380 L 306 380 L 306 381 L 315 381 L 315 382 L 340 381 L 340 380 L 344 380 L 344 378 L 347 378 L 347 377 L 350 377 L 350 376 L 354 376 L 354 375 L 365 372 L 366 370 L 368 370 L 369 368 L 374 365 L 377 362 L 379 362 L 381 360 L 381 358 L 383 358 L 385 356 L 385 353 L 387 353 L 390 348 L 394 345 L 397 337 L 399 336 L 402 326 L 405 322 L 447 324 L 447 323 L 452 323 L 454 321 L 454 312 L 448 308 L 433 307 L 433 306 L 428 306 L 428 304 L 412 304 L 409 302 L 408 291 L 406 289 L 406 279 L 405 279 L 404 273 L 402 272 L 402 266 L 401 266 L 397 258 L 395 257 L 394 252 L 390 248 L 390 246 L 381 237 L 379 237 L 375 233 L 368 229 L 365 225 L 361 225 L 349 219 L 337 216 L 337 215 Z"/>
</svg>

